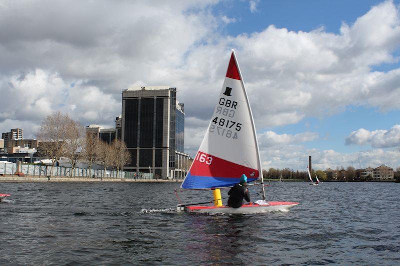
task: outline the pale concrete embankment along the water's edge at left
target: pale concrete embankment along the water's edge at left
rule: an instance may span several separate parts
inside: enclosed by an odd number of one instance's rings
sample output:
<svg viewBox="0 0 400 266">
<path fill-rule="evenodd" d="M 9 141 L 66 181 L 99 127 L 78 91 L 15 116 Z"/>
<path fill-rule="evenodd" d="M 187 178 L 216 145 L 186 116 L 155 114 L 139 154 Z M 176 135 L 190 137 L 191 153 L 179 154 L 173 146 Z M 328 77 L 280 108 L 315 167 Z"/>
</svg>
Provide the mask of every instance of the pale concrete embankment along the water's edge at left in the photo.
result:
<svg viewBox="0 0 400 266">
<path fill-rule="evenodd" d="M 183 180 L 170 179 L 130 179 L 130 178 L 84 178 L 84 177 L 18 177 L 18 176 L 1 176 L 1 182 L 135 182 L 135 183 L 152 183 L 152 182 L 182 182 Z"/>
</svg>

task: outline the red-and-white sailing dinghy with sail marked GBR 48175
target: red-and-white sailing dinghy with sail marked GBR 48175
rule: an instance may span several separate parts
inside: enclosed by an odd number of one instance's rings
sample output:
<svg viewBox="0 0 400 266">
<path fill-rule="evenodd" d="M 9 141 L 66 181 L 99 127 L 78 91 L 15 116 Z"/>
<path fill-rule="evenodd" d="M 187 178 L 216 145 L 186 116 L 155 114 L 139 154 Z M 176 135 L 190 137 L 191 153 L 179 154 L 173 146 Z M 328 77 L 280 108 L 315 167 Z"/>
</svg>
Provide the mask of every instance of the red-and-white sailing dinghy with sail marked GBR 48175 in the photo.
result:
<svg viewBox="0 0 400 266">
<path fill-rule="evenodd" d="M 297 205 L 297 202 L 265 201 L 253 116 L 233 50 L 218 98 L 204 138 L 178 189 L 212 190 L 214 200 L 209 203 L 213 202 L 214 206 L 178 204 L 177 211 L 226 214 L 263 213 L 289 209 Z M 262 200 L 236 209 L 223 206 L 219 189 L 230 188 L 239 183 L 242 174 L 247 176 L 247 182 L 260 181 L 258 185 L 261 186 Z"/>
</svg>

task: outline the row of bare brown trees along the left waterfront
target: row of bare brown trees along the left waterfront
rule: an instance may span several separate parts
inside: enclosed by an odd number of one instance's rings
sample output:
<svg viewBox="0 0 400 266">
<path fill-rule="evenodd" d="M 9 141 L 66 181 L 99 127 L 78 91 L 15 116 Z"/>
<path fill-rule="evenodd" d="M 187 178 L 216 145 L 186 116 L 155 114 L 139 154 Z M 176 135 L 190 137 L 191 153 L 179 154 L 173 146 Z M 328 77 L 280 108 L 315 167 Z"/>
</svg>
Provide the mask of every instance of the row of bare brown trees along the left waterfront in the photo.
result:
<svg viewBox="0 0 400 266">
<path fill-rule="evenodd" d="M 107 167 L 113 167 L 118 175 L 121 168 L 131 161 L 124 142 L 115 139 L 108 144 L 100 140 L 97 133 L 86 133 L 83 125 L 60 112 L 47 116 L 41 122 L 36 138 L 40 156 L 52 161 L 50 173 L 61 157 L 69 159 L 72 168 L 70 175 L 78 162 L 87 163 L 89 173 L 93 164 L 99 164 L 104 173 Z"/>
</svg>

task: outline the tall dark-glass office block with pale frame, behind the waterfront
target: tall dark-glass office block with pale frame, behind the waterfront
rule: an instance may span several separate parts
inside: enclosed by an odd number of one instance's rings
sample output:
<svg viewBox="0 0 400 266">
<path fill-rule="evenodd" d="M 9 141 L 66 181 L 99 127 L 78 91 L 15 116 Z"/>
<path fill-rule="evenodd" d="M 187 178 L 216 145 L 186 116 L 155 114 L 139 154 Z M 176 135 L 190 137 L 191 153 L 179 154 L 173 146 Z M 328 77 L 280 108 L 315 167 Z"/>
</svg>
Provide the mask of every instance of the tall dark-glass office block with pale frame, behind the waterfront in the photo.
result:
<svg viewBox="0 0 400 266">
<path fill-rule="evenodd" d="M 156 177 L 184 176 L 184 109 L 176 88 L 130 87 L 122 90 L 121 140 L 131 154 L 124 171 L 152 172 Z"/>
</svg>

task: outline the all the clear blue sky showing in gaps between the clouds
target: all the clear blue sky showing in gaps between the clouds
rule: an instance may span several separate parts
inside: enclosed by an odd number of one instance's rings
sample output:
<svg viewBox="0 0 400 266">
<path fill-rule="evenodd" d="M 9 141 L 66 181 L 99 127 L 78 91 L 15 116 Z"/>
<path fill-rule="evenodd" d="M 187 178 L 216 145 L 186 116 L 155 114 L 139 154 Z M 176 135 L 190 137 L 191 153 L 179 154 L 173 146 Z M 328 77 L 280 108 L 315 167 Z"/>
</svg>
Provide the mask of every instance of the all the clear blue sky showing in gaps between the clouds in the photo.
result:
<svg viewBox="0 0 400 266">
<path fill-rule="evenodd" d="M 339 34 L 343 22 L 351 25 L 368 10 L 382 1 L 379 0 L 285 0 L 256 1 L 256 10 L 250 11 L 247 1 L 223 1 L 215 6 L 213 12 L 234 17 L 235 22 L 226 26 L 226 34 L 251 34 L 262 31 L 270 24 L 289 31 L 312 31 L 323 27 L 326 32 Z M 398 1 L 394 1 L 398 5 Z M 393 52 L 399 56 L 399 50 Z M 382 63 L 371 66 L 371 71 L 383 71 L 399 67 L 399 63 Z M 350 132 L 359 128 L 368 131 L 389 129 L 400 123 L 400 111 L 383 111 L 376 107 L 348 105 L 343 111 L 323 116 L 309 116 L 295 124 L 264 128 L 277 134 L 299 134 L 301 132 L 317 132 L 319 138 L 304 142 L 305 149 L 332 149 L 340 153 L 354 153 L 371 149 L 365 145 L 345 145 L 345 138 Z M 358 161 L 354 167 L 358 167 Z M 362 166 L 361 166 L 362 167 Z"/>
</svg>

